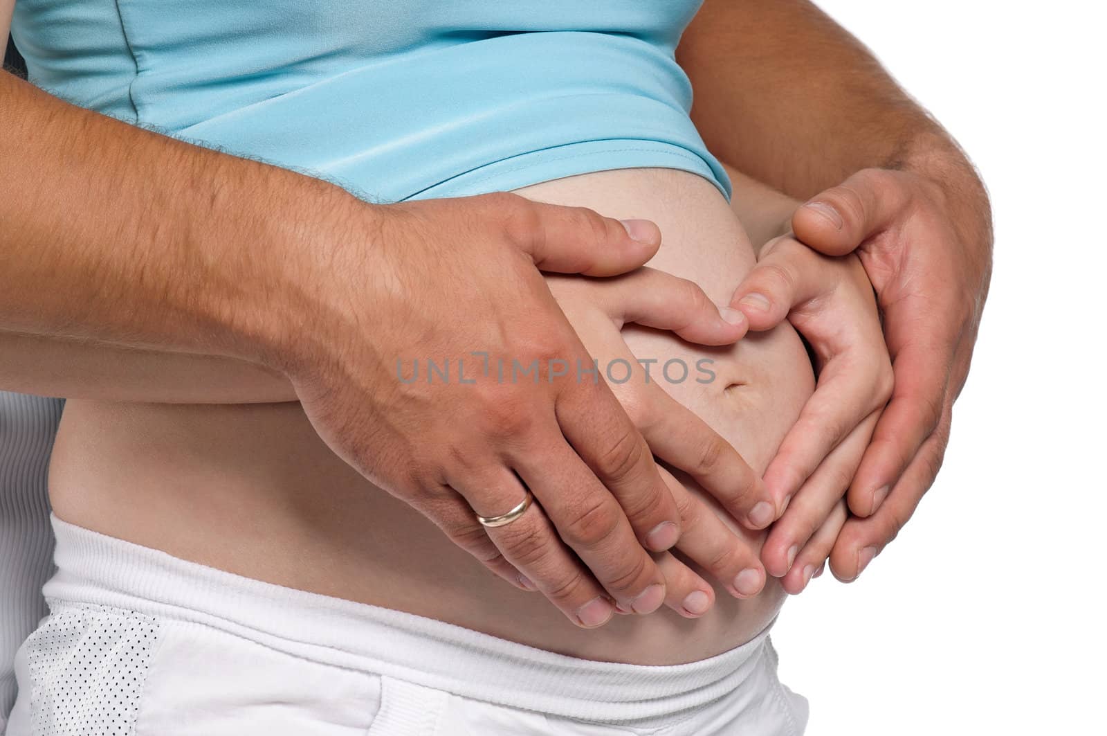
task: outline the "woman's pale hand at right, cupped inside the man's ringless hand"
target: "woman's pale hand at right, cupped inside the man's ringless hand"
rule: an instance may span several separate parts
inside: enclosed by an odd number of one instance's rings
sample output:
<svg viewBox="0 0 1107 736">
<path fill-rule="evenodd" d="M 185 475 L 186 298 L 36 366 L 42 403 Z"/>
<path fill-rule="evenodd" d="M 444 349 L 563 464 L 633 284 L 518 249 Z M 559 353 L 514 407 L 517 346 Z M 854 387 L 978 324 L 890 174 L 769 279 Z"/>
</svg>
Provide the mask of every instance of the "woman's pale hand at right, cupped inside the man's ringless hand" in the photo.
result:
<svg viewBox="0 0 1107 736">
<path fill-rule="evenodd" d="M 753 330 L 785 318 L 815 354 L 818 385 L 764 479 L 774 519 L 762 560 L 789 593 L 807 585 L 846 522 L 844 497 L 892 392 L 892 367 L 872 286 L 852 254 L 825 256 L 795 237 L 775 238 L 734 296 Z M 782 515 L 783 514 L 783 515 Z"/>
</svg>

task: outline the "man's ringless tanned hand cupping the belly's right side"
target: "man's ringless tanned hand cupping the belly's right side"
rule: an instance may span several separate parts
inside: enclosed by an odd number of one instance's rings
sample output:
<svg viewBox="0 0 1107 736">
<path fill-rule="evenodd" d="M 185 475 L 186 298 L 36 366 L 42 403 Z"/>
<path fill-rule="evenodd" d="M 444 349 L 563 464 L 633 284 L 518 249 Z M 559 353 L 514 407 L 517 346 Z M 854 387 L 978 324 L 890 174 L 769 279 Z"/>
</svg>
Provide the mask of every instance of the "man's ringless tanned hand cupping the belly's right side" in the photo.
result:
<svg viewBox="0 0 1107 736">
<path fill-rule="evenodd" d="M 849 487 L 858 518 L 846 522 L 830 556 L 834 574 L 850 581 L 894 539 L 942 464 L 987 295 L 991 218 L 964 160 L 933 156 L 912 170 L 858 172 L 799 207 L 792 226 L 828 255 L 856 248 L 894 372 L 891 401 Z"/>
</svg>

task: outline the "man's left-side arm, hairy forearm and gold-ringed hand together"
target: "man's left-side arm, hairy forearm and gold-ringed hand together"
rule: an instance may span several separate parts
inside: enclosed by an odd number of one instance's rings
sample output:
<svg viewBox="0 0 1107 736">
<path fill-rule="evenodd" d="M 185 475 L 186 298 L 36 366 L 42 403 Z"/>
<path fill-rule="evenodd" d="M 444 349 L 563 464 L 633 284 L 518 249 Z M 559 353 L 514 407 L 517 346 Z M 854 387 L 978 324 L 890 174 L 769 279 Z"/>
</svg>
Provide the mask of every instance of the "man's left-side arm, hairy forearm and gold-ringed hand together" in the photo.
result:
<svg viewBox="0 0 1107 736">
<path fill-rule="evenodd" d="M 260 364 L 339 456 L 577 623 L 603 623 L 609 600 L 662 604 L 643 544 L 671 548 L 680 511 L 607 386 L 555 380 L 554 359 L 591 359 L 539 272 L 631 270 L 658 248 L 653 225 L 630 223 L 635 242 L 594 212 L 510 194 L 370 205 L 11 74 L 0 100 L 0 330 Z M 702 339 L 745 331 L 712 309 Z M 477 351 L 506 360 L 508 382 L 474 376 Z M 397 359 L 421 360 L 423 379 L 449 359 L 454 381 L 406 384 Z M 516 364 L 534 372 L 511 384 Z M 525 485 L 539 503 L 521 518 L 476 522 Z"/>
</svg>

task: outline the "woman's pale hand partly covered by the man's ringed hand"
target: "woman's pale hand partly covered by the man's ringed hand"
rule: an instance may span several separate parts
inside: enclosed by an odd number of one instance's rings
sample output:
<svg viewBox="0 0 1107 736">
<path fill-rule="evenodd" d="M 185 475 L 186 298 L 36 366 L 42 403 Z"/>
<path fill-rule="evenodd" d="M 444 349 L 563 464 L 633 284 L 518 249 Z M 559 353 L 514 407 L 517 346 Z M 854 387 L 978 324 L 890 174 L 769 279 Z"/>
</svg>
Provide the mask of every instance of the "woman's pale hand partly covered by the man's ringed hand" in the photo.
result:
<svg viewBox="0 0 1107 736">
<path fill-rule="evenodd" d="M 704 323 L 710 327 L 715 305 L 693 282 L 652 268 L 615 278 L 547 275 L 546 280 L 586 349 L 597 359 L 598 372 L 611 385 L 653 453 L 695 479 L 733 515 L 744 517 L 759 498 L 757 474 L 726 440 L 661 388 L 662 366 L 653 366 L 650 378 L 651 357 L 634 356 L 620 334 L 623 325 L 637 323 L 672 330 L 692 343 L 710 344 L 712 335 L 704 330 Z M 744 329 L 744 321 L 739 324 Z M 765 572 L 756 552 L 664 468 L 659 470 L 681 514 L 676 549 L 735 597 L 761 592 Z M 711 607 L 714 590 L 706 581 L 669 552 L 654 555 L 654 560 L 665 576 L 669 607 L 687 617 Z"/>
</svg>

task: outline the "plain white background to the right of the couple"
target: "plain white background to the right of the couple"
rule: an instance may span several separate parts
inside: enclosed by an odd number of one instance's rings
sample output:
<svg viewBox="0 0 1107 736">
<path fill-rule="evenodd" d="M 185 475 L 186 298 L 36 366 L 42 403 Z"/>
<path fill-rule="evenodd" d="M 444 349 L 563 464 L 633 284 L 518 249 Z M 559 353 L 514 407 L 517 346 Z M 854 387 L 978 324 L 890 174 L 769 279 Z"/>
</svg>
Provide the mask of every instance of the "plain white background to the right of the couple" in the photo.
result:
<svg viewBox="0 0 1107 736">
<path fill-rule="evenodd" d="M 1107 734 L 1104 6 L 820 6 L 980 167 L 995 270 L 937 483 L 785 605 L 782 679 L 811 736 Z"/>
</svg>

